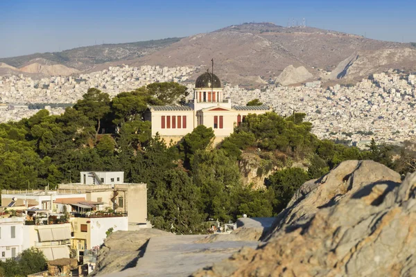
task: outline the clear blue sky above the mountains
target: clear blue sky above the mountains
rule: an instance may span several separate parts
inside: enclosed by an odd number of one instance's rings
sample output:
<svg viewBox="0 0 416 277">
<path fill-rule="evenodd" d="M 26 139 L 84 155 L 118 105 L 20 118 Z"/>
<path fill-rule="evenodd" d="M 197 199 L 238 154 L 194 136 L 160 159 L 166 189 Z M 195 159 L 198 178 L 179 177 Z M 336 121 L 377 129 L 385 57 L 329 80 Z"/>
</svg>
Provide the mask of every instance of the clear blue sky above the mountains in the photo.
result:
<svg viewBox="0 0 416 277">
<path fill-rule="evenodd" d="M 0 0 L 0 57 L 95 43 L 184 37 L 244 22 L 309 26 L 416 42 L 416 1 Z"/>
</svg>

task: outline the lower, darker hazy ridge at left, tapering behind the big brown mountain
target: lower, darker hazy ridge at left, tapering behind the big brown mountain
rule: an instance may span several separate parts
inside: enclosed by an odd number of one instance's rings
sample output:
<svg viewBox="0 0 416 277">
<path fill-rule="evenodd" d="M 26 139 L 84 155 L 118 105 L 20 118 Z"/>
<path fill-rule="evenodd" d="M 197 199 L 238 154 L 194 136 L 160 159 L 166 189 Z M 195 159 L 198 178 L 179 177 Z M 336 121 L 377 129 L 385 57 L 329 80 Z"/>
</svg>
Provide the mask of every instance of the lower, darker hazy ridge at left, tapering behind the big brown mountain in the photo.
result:
<svg viewBox="0 0 416 277">
<path fill-rule="evenodd" d="M 101 44 L 78 47 L 61 52 L 35 53 L 19 57 L 0 58 L 0 62 L 4 62 L 10 66 L 22 67 L 42 59 L 48 61 L 47 63 L 49 64 L 63 64 L 74 69 L 85 70 L 104 62 L 128 60 L 141 57 L 142 55 L 148 55 L 179 40 L 180 38 L 174 37 L 149 40 L 146 42 Z"/>
</svg>

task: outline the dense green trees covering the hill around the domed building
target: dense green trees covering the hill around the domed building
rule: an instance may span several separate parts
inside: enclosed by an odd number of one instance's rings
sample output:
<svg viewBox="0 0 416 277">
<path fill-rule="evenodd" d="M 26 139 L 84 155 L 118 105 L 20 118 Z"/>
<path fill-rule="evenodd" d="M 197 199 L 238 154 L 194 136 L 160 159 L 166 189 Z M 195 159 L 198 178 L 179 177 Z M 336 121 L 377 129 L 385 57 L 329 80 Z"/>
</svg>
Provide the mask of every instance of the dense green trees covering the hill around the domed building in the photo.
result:
<svg viewBox="0 0 416 277">
<path fill-rule="evenodd" d="M 156 228 L 204 233 L 208 220 L 276 215 L 304 181 L 347 159 L 372 159 L 401 172 L 416 164 L 411 160 L 416 156 L 405 155 L 406 160 L 393 163 L 392 149 L 375 141 L 367 151 L 321 141 L 311 133 L 305 114 L 250 114 L 216 148 L 214 131 L 203 125 L 178 145 L 152 138 L 150 122 L 144 121 L 147 106 L 171 105 L 185 92 L 179 84 L 156 83 L 110 100 L 89 89 L 61 116 L 41 110 L 0 124 L 1 188 L 53 188 L 69 182 L 70 175 L 80 181 L 81 170 L 123 170 L 126 182 L 147 184 L 148 219 Z M 103 129 L 110 134 L 102 134 Z M 238 161 L 250 149 L 259 151 L 264 170 L 272 172 L 261 190 L 241 181 Z M 292 168 L 295 161 L 307 171 Z M 279 170 L 271 171 L 273 167 Z"/>
</svg>

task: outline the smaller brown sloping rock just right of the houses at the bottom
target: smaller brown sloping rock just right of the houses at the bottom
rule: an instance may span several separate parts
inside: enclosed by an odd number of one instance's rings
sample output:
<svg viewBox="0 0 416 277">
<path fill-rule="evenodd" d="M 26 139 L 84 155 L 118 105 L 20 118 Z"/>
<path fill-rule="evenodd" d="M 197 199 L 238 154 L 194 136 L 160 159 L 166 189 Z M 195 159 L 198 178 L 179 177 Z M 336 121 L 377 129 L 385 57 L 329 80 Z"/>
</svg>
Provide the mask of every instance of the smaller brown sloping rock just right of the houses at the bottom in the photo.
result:
<svg viewBox="0 0 416 277">
<path fill-rule="evenodd" d="M 116 231 L 112 233 L 98 252 L 94 275 L 109 274 L 129 267 L 135 267 L 150 238 L 171 236 L 158 229 L 141 229 L 140 231 Z"/>
</svg>

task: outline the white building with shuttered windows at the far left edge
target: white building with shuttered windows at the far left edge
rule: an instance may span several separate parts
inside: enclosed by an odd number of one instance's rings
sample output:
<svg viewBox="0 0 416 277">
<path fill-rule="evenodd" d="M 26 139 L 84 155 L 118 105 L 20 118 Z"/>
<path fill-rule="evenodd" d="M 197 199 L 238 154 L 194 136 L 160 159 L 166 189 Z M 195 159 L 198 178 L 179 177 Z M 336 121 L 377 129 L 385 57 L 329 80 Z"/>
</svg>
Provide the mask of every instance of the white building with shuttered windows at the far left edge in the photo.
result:
<svg viewBox="0 0 416 277">
<path fill-rule="evenodd" d="M 0 259 L 15 258 L 23 251 L 23 217 L 0 218 Z"/>
</svg>

